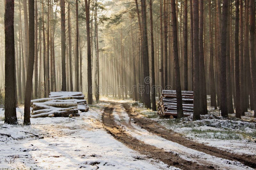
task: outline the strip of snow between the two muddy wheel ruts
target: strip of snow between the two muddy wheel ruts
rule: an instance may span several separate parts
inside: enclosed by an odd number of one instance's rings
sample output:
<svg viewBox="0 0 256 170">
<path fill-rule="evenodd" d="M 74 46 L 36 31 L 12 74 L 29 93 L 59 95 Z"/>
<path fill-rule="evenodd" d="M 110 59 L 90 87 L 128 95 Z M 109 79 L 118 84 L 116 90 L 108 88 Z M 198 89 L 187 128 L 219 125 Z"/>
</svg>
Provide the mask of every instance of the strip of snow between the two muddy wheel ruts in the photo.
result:
<svg viewBox="0 0 256 170">
<path fill-rule="evenodd" d="M 121 112 L 119 115 L 118 112 Z M 194 149 L 190 149 L 178 143 L 174 143 L 172 141 L 166 140 L 157 135 L 153 135 L 149 133 L 147 130 L 140 128 L 136 124 L 129 124 L 129 116 L 126 112 L 124 112 L 123 107 L 118 107 L 113 111 L 114 118 L 119 122 L 119 125 L 125 130 L 129 135 L 143 141 L 147 144 L 153 145 L 157 148 L 163 148 L 167 152 L 172 152 L 174 154 L 178 154 L 180 158 L 183 158 L 188 161 L 195 161 L 199 163 L 206 163 L 218 165 L 221 169 L 252 169 L 248 166 L 244 166 L 240 162 L 230 161 L 223 158 L 218 158 L 209 154 L 206 154 L 201 151 L 196 151 Z"/>
</svg>

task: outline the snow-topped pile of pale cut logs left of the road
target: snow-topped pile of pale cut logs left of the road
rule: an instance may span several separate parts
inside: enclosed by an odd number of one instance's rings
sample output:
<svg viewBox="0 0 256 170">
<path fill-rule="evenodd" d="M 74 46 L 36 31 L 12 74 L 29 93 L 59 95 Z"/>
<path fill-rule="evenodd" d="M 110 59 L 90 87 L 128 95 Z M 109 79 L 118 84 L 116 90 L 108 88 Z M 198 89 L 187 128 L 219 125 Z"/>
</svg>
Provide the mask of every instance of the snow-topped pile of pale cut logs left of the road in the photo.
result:
<svg viewBox="0 0 256 170">
<path fill-rule="evenodd" d="M 48 98 L 31 100 L 31 118 L 79 116 L 78 110 L 87 112 L 89 107 L 82 92 L 51 92 Z"/>
</svg>

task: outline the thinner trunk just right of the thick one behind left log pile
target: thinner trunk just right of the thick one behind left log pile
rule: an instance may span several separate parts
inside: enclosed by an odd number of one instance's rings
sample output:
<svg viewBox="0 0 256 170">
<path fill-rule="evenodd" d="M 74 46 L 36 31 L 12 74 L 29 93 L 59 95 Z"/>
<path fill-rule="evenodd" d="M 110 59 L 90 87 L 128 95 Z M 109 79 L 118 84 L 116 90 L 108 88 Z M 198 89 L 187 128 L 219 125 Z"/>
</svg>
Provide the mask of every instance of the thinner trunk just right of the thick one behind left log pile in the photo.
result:
<svg viewBox="0 0 256 170">
<path fill-rule="evenodd" d="M 70 83 L 70 91 L 73 91 L 73 78 L 72 78 L 72 41 L 71 41 L 71 24 L 70 24 L 70 3 L 68 2 L 68 58 L 69 58 L 69 83 Z M 77 60 L 78 62 L 78 60 Z M 75 66 L 78 70 L 78 67 Z M 78 79 L 78 77 L 76 77 Z M 79 89 L 76 91 L 79 91 Z"/>
</svg>

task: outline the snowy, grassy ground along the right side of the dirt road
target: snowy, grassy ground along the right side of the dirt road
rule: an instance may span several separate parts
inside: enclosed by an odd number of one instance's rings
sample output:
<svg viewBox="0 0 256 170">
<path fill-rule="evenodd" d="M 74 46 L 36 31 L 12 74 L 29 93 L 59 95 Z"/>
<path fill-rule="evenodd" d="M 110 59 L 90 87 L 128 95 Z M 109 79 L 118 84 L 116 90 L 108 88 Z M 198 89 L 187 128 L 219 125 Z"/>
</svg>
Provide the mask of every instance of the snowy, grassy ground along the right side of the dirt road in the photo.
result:
<svg viewBox="0 0 256 170">
<path fill-rule="evenodd" d="M 253 112 L 246 112 L 242 119 L 236 119 L 235 114 L 229 114 L 229 119 L 225 119 L 219 116 L 218 109 L 208 107 L 207 115 L 192 121 L 193 115 L 178 120 L 159 117 L 156 112 L 141 106 L 133 109 L 193 141 L 234 153 L 256 155 L 256 122 L 249 122 Z"/>
</svg>

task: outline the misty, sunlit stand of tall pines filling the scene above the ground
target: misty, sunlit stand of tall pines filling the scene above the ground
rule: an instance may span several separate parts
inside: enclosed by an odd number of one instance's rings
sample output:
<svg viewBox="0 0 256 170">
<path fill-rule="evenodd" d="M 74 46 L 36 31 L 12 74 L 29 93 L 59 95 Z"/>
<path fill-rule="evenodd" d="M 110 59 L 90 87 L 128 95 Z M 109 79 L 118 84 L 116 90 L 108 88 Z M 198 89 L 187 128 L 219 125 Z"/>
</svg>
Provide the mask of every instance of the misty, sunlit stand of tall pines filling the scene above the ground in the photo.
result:
<svg viewBox="0 0 256 170">
<path fill-rule="evenodd" d="M 50 91 L 83 91 L 88 104 L 99 102 L 108 86 L 122 87 L 113 97 L 129 91 L 153 110 L 170 86 L 181 112 L 181 90 L 193 90 L 194 119 L 207 113 L 206 95 L 224 117 L 234 107 L 237 118 L 255 108 L 254 0 L 6 0 L 0 7 L 0 79 L 9 83 L 5 97 L 10 92 L 27 110 Z"/>
</svg>

